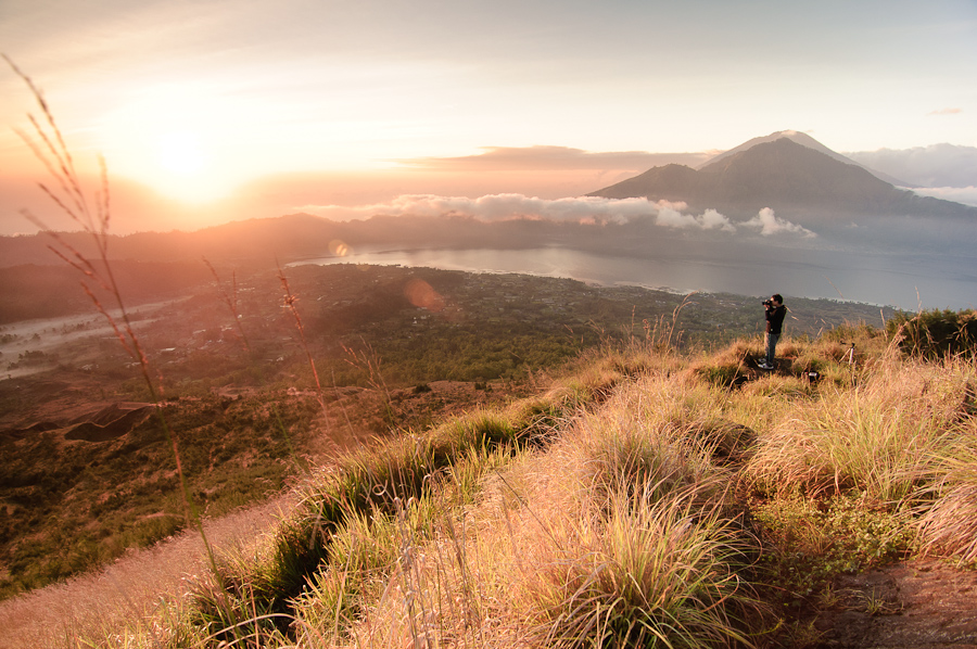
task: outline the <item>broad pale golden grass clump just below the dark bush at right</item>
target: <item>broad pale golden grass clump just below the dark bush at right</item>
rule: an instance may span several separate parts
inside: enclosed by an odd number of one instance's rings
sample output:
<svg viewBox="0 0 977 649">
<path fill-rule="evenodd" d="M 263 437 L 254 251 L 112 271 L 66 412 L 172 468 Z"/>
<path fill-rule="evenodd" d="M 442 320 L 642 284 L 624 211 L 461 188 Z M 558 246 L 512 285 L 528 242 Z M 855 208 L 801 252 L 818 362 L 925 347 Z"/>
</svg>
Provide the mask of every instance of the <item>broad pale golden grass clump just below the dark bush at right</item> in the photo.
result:
<svg viewBox="0 0 977 649">
<path fill-rule="evenodd" d="M 959 435 L 970 381 L 964 368 L 880 362 L 857 387 L 795 400 L 760 438 L 747 474 L 770 492 L 858 488 L 904 500 Z"/>
</svg>

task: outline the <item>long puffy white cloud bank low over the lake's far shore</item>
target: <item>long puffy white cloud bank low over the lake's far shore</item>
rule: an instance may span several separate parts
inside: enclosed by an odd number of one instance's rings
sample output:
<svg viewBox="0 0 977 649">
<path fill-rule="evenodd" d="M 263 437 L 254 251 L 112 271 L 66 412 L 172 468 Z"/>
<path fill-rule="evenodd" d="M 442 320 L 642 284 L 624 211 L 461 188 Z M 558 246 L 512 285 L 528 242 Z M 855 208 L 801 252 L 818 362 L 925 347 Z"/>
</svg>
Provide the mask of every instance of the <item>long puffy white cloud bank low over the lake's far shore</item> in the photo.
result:
<svg viewBox="0 0 977 649">
<path fill-rule="evenodd" d="M 467 196 L 437 196 L 432 194 L 405 194 L 386 203 L 346 207 L 342 205 L 301 205 L 296 211 L 316 214 L 335 220 L 365 219 L 384 216 L 470 216 L 484 221 L 515 218 L 580 222 L 589 225 L 626 224 L 633 220 L 651 220 L 656 226 L 670 229 L 698 229 L 735 232 L 738 227 L 758 229 L 764 237 L 773 234 L 800 234 L 815 237 L 814 232 L 777 218 L 773 209 L 764 207 L 753 218 L 734 222 L 715 209 L 702 214 L 686 212 L 685 203 L 652 202 L 648 199 L 604 199 L 578 196 L 571 199 L 537 199 L 522 194 L 491 194 L 478 199 Z"/>
</svg>

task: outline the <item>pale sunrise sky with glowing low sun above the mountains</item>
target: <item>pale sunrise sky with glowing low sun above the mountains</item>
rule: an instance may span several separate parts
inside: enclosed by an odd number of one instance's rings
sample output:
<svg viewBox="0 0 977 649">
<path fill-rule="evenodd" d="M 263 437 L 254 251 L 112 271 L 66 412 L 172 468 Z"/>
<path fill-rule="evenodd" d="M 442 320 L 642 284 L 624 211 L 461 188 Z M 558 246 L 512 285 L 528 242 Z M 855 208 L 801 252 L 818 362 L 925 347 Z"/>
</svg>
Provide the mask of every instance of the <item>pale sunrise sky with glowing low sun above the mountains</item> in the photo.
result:
<svg viewBox="0 0 977 649">
<path fill-rule="evenodd" d="M 0 52 L 79 168 L 104 156 L 120 233 L 556 200 L 785 129 L 977 147 L 974 0 L 0 0 Z M 68 227 L 5 64 L 0 97 L 0 233 Z"/>
</svg>

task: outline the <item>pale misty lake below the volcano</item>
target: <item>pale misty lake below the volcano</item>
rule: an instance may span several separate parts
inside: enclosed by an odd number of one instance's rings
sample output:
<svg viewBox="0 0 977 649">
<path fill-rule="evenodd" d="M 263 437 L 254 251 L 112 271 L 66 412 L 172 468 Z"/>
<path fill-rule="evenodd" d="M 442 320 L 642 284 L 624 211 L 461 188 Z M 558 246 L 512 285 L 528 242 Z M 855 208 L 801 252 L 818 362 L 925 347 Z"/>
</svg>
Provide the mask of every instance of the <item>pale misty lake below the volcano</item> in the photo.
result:
<svg viewBox="0 0 977 649">
<path fill-rule="evenodd" d="M 547 246 L 529 250 L 358 250 L 296 264 L 377 264 L 468 272 L 517 272 L 634 284 L 678 293 L 702 291 L 827 297 L 916 310 L 973 308 L 977 271 L 969 258 L 774 249 L 754 258 L 610 256 Z"/>
</svg>

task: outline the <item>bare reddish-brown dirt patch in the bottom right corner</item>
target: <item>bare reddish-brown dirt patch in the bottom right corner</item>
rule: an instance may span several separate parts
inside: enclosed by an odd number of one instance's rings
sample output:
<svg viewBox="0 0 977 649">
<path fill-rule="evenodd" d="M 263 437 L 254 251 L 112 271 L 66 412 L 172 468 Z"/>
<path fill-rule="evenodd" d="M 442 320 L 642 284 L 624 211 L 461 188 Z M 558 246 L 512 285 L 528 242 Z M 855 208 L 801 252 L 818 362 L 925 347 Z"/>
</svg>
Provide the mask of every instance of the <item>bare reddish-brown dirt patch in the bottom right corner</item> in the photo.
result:
<svg viewBox="0 0 977 649">
<path fill-rule="evenodd" d="M 937 560 L 900 563 L 838 581 L 837 610 L 815 623 L 817 647 L 977 647 L 977 572 Z"/>
</svg>

